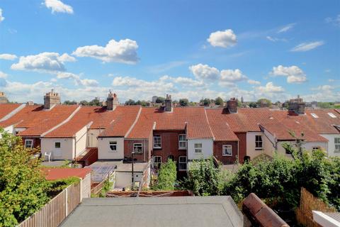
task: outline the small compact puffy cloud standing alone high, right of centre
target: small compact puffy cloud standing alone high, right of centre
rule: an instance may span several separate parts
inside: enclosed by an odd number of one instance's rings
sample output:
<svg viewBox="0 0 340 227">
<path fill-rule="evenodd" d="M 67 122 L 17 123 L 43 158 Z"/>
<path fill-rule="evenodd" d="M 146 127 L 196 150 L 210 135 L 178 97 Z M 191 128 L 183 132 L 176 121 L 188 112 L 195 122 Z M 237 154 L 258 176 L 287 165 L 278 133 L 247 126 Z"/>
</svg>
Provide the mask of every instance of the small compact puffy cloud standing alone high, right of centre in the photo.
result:
<svg viewBox="0 0 340 227">
<path fill-rule="evenodd" d="M 215 31 L 211 33 L 207 39 L 210 45 L 214 47 L 227 48 L 236 45 L 237 38 L 232 29 L 227 29 L 225 31 Z"/>
</svg>

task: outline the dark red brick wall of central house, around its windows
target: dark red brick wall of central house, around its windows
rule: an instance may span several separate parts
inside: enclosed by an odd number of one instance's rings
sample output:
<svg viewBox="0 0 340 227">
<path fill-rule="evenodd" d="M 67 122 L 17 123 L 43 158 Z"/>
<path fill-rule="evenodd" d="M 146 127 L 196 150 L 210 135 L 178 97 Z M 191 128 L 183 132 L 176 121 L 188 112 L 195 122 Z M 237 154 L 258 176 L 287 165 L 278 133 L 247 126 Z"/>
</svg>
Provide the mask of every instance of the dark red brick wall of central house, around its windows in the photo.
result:
<svg viewBox="0 0 340 227">
<path fill-rule="evenodd" d="M 161 156 L 162 162 L 166 162 L 169 155 L 174 155 L 178 166 L 179 156 L 186 156 L 186 150 L 179 150 L 179 134 L 186 134 L 186 131 L 154 131 L 154 135 L 161 135 L 162 149 L 153 148 L 152 156 Z"/>
</svg>

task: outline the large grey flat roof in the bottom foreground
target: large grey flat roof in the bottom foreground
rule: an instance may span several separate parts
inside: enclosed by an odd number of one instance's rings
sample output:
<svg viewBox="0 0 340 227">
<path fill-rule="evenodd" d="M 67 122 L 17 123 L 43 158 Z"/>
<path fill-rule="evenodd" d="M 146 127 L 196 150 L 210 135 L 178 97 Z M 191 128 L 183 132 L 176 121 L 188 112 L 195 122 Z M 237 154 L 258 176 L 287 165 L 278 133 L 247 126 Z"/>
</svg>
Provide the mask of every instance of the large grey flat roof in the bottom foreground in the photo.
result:
<svg viewBox="0 0 340 227">
<path fill-rule="evenodd" d="M 230 196 L 183 196 L 83 199 L 61 226 L 229 227 L 243 223 Z"/>
</svg>

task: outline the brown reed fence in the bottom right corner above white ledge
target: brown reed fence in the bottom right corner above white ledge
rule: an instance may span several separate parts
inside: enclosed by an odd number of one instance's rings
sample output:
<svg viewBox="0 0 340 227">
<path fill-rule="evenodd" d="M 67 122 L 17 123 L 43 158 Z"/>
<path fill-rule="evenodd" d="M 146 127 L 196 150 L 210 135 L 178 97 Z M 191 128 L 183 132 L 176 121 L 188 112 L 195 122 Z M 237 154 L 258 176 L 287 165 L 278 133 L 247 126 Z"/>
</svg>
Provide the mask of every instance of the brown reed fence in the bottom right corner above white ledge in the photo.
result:
<svg viewBox="0 0 340 227">
<path fill-rule="evenodd" d="M 300 206 L 296 210 L 297 223 L 306 227 L 320 227 L 313 220 L 312 211 L 335 212 L 334 208 L 329 207 L 321 199 L 313 196 L 305 188 L 301 188 Z"/>
</svg>

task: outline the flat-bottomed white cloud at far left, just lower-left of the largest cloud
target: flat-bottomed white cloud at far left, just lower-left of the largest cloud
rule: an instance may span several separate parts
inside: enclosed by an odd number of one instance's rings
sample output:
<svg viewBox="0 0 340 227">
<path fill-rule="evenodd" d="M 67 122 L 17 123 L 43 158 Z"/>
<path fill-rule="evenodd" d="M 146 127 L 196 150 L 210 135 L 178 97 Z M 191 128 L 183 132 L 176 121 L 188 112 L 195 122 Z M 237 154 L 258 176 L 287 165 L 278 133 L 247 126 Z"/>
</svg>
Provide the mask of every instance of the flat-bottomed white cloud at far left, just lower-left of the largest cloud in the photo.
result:
<svg viewBox="0 0 340 227">
<path fill-rule="evenodd" d="M 63 72 L 64 62 L 74 62 L 74 57 L 57 52 L 42 52 L 38 55 L 28 55 L 19 58 L 19 62 L 11 65 L 12 70 L 26 70 L 35 72 Z"/>
</svg>

